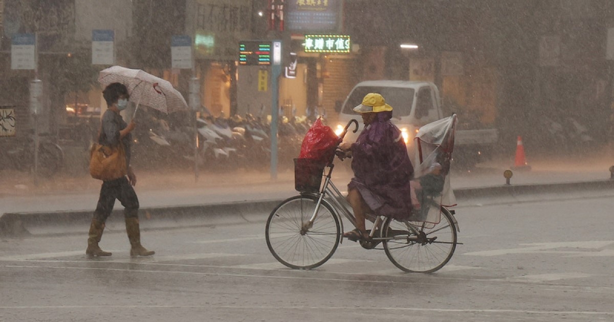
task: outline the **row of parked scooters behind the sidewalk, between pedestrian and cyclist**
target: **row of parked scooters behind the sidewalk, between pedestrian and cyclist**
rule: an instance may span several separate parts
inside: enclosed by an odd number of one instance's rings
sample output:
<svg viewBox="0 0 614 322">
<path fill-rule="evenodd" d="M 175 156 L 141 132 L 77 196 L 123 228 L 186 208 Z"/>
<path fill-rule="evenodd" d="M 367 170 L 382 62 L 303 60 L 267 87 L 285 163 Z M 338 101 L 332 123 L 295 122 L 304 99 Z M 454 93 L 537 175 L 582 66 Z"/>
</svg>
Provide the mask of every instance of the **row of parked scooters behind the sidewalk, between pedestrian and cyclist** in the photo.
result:
<svg viewBox="0 0 614 322">
<path fill-rule="evenodd" d="M 193 119 L 192 119 L 193 122 Z M 141 131 L 134 132 L 133 158 L 136 164 L 150 168 L 190 167 L 195 156 L 201 169 L 268 169 L 271 162 L 271 122 L 269 118 L 234 115 L 196 118 L 173 124 L 152 117 Z M 311 126 L 306 117 L 280 117 L 278 123 L 278 165 L 292 168 L 301 142 Z M 198 141 L 195 144 L 195 131 Z M 197 147 L 197 148 L 196 148 Z"/>
</svg>

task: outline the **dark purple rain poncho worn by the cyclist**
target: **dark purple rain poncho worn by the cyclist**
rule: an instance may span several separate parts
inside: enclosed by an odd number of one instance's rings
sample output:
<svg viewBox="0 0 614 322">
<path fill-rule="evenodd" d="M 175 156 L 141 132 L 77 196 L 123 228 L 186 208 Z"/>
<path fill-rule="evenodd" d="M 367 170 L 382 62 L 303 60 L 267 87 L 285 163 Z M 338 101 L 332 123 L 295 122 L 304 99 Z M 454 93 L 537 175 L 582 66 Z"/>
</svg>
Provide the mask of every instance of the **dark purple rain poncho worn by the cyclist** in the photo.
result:
<svg viewBox="0 0 614 322">
<path fill-rule="evenodd" d="M 354 178 L 348 189 L 357 189 L 375 215 L 400 220 L 411 215 L 414 168 L 401 131 L 391 118 L 392 112 L 378 112 L 352 144 Z"/>
</svg>

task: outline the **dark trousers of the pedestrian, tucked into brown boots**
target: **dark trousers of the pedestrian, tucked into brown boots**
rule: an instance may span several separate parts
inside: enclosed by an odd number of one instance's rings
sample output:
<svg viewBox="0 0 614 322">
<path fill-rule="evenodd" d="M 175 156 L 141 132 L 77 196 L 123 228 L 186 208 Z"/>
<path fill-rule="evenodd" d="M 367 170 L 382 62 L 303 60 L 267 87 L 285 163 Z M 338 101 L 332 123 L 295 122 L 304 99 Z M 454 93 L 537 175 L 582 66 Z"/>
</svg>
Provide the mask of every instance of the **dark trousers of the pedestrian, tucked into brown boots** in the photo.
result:
<svg viewBox="0 0 614 322">
<path fill-rule="evenodd" d="M 94 218 L 102 223 L 106 222 L 113 211 L 115 199 L 122 203 L 124 207 L 123 215 L 126 218 L 138 218 L 139 198 L 136 196 L 136 192 L 134 192 L 134 188 L 128 182 L 127 177 L 103 182 Z"/>
</svg>

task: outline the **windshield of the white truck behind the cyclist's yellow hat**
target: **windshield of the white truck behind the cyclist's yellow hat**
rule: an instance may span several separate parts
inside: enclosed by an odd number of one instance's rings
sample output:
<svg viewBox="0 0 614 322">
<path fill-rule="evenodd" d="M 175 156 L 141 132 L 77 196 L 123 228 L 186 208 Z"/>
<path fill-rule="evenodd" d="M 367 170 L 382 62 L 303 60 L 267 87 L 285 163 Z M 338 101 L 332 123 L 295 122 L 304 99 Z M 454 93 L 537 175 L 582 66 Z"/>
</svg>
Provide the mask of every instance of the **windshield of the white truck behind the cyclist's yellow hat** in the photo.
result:
<svg viewBox="0 0 614 322">
<path fill-rule="evenodd" d="M 392 115 L 395 117 L 405 117 L 410 115 L 411 105 L 414 100 L 414 89 L 406 87 L 382 87 L 382 86 L 360 86 L 354 88 L 349 94 L 348 101 L 343 106 L 342 113 L 358 114 L 354 112 L 354 107 L 362 102 L 368 93 L 379 93 L 386 99 L 386 103 L 392 106 Z"/>
</svg>

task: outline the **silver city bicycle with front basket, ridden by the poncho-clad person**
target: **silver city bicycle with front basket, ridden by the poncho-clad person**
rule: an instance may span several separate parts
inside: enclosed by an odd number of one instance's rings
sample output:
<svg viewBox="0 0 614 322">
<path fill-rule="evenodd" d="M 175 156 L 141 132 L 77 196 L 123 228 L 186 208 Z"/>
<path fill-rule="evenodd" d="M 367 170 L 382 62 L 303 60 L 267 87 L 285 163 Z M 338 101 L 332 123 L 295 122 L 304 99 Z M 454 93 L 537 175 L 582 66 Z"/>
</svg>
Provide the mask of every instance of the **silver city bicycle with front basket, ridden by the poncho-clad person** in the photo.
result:
<svg viewBox="0 0 614 322">
<path fill-rule="evenodd" d="M 340 142 L 352 123 L 356 123 L 354 132 L 357 131 L 357 121 L 351 120 Z M 451 149 L 449 153 L 443 151 L 451 158 Z M 330 259 L 343 242 L 342 216 L 356 227 L 351 205 L 331 179 L 334 158 L 335 155 L 324 167 L 309 159 L 295 159 L 295 188 L 300 194 L 282 201 L 266 221 L 266 245 L 274 258 L 287 267 L 313 269 Z M 311 175 L 305 178 L 305 173 Z M 436 197 L 422 198 L 421 211 L 408 220 L 375 215 L 368 219 L 373 228 L 368 230 L 368 240 L 360 240 L 360 245 L 375 249 L 382 243 L 388 259 L 405 272 L 435 272 L 448 263 L 456 250 L 459 229 L 454 210 L 441 205 Z"/>
</svg>

